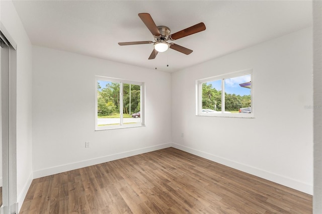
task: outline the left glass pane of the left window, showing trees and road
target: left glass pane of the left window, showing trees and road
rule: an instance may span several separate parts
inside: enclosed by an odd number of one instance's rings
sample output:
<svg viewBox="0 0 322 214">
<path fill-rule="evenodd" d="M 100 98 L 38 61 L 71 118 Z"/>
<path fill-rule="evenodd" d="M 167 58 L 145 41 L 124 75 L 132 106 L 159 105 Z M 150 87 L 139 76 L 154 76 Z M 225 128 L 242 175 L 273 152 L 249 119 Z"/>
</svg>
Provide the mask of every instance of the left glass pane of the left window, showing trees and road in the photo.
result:
<svg viewBox="0 0 322 214">
<path fill-rule="evenodd" d="M 97 81 L 97 125 L 120 125 L 120 83 Z"/>
</svg>

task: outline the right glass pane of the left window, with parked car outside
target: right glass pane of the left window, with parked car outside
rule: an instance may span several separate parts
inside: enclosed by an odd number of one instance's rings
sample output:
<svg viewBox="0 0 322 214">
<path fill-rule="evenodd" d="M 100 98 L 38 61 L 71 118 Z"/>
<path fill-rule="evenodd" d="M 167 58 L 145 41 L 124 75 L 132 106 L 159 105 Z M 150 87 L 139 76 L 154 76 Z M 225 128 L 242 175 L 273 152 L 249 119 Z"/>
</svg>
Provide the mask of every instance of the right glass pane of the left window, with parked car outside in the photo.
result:
<svg viewBox="0 0 322 214">
<path fill-rule="evenodd" d="M 141 122 L 140 85 L 123 84 L 123 124 Z"/>
</svg>

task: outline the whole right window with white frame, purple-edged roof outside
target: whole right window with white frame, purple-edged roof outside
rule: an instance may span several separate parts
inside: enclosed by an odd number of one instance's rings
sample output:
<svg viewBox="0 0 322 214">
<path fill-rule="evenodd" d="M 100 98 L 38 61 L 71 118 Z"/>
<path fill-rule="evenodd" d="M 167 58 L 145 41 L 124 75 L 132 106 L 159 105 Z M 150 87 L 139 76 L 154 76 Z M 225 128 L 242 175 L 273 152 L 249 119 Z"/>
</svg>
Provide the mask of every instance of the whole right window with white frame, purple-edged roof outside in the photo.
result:
<svg viewBox="0 0 322 214">
<path fill-rule="evenodd" d="M 254 117 L 252 70 L 196 81 L 197 116 Z"/>
</svg>

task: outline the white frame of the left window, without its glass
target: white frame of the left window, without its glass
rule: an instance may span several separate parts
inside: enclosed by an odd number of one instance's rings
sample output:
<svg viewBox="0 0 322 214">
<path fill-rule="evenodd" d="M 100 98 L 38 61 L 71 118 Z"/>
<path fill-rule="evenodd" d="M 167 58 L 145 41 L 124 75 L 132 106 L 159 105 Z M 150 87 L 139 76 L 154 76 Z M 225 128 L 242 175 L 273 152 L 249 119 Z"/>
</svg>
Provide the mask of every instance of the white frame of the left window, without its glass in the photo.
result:
<svg viewBox="0 0 322 214">
<path fill-rule="evenodd" d="M 110 126 L 98 126 L 98 90 L 97 83 L 99 80 L 115 82 L 120 84 L 120 93 L 119 93 L 119 111 L 120 111 L 120 124 L 110 125 Z M 134 84 L 140 85 L 140 122 L 135 124 L 124 124 L 123 123 L 123 85 L 124 84 Z M 113 129 L 126 129 L 126 128 L 135 128 L 135 127 L 144 127 L 145 126 L 145 83 L 121 78 L 113 78 L 106 76 L 95 76 L 95 131 L 102 130 L 113 130 Z"/>
</svg>

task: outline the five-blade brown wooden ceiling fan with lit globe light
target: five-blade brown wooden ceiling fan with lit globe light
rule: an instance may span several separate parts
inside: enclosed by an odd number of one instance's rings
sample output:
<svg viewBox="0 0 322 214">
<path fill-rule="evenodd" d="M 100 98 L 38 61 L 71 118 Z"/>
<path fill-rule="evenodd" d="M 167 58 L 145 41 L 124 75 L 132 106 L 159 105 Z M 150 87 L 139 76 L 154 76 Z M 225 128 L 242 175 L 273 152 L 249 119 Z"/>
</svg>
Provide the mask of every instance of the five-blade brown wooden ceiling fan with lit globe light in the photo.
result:
<svg viewBox="0 0 322 214">
<path fill-rule="evenodd" d="M 191 26 L 189 28 L 186 28 L 182 31 L 179 31 L 174 34 L 170 34 L 170 29 L 166 26 L 156 26 L 152 17 L 148 13 L 141 13 L 138 14 L 138 16 L 141 18 L 145 26 L 149 29 L 149 31 L 152 33 L 154 37 L 154 41 L 140 41 L 140 42 L 119 42 L 118 44 L 123 45 L 140 45 L 140 44 L 151 44 L 153 43 L 153 51 L 151 55 L 149 56 L 149 59 L 154 59 L 156 57 L 156 54 L 158 52 L 165 52 L 169 48 L 174 49 L 176 51 L 179 51 L 184 54 L 191 54 L 192 50 L 182 47 L 180 45 L 174 44 L 174 43 L 168 43 L 167 41 L 174 41 L 176 39 L 180 39 L 186 36 L 189 36 L 191 34 L 195 34 L 201 31 L 206 30 L 206 26 L 204 23 L 199 23 L 197 25 Z"/>
</svg>

